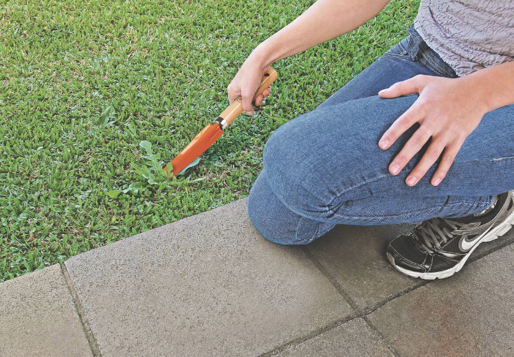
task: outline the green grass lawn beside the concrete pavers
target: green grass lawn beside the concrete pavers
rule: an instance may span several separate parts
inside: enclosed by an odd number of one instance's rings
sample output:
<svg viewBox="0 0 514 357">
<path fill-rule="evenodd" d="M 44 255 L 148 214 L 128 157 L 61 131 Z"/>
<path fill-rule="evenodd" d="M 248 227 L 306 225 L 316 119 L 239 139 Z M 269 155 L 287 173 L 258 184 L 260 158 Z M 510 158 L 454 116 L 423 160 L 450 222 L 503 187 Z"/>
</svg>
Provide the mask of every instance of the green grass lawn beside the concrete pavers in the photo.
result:
<svg viewBox="0 0 514 357">
<path fill-rule="evenodd" d="M 249 52 L 311 3 L 0 0 L 0 281 L 244 198 L 273 130 L 403 38 L 418 8 L 393 0 L 276 63 L 254 117 L 186 175 L 154 177 L 227 106 Z"/>
</svg>

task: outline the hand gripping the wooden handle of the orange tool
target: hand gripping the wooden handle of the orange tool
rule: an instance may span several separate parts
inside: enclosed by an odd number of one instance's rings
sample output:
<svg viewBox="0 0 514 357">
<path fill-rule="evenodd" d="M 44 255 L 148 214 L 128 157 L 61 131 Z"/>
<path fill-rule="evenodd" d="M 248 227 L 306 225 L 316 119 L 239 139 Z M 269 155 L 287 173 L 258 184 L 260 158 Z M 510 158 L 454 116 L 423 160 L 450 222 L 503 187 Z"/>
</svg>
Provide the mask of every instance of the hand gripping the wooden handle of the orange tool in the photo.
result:
<svg viewBox="0 0 514 357">
<path fill-rule="evenodd" d="M 227 87 L 229 103 L 232 103 L 236 97 L 241 95 L 243 98 L 243 102 L 241 103 L 243 104 L 243 111 L 247 115 L 254 114 L 252 100 L 254 99 L 254 95 L 262 81 L 262 76 L 264 75 L 264 72 L 269 69 L 269 66 L 269 64 L 260 64 L 258 60 L 254 59 L 252 55 L 250 55 Z M 271 87 L 268 87 L 264 92 L 256 97 L 255 105 L 260 106 L 260 104 L 262 104 L 262 100 L 267 97 L 269 93 L 271 93 Z"/>
</svg>

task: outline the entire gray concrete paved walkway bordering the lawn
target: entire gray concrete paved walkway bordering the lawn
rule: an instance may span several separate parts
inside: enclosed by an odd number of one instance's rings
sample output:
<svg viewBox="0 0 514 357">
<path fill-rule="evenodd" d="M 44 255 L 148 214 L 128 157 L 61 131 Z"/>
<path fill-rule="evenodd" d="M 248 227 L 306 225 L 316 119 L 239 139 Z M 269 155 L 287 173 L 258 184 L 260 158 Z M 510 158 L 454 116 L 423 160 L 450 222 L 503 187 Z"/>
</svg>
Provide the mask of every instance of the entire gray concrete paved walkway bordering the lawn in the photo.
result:
<svg viewBox="0 0 514 357">
<path fill-rule="evenodd" d="M 280 246 L 246 202 L 0 284 L 0 356 L 514 356 L 514 230 L 428 282 L 385 260 L 412 224 Z"/>
</svg>

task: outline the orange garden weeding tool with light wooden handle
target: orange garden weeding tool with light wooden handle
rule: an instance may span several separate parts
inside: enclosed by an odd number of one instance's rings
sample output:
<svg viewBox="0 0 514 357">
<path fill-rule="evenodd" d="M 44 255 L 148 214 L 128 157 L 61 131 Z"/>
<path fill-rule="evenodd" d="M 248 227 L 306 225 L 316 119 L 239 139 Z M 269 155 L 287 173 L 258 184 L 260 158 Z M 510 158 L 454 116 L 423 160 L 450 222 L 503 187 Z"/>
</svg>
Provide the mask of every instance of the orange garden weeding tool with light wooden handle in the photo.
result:
<svg viewBox="0 0 514 357">
<path fill-rule="evenodd" d="M 271 85 L 277 79 L 277 71 L 270 68 L 265 71 L 262 76 L 262 81 L 260 82 L 260 86 L 257 89 L 254 99 L 252 102 L 256 100 L 256 97 L 260 95 L 267 87 Z M 172 159 L 171 165 L 173 166 L 173 175 L 178 174 L 187 165 L 192 163 L 197 157 L 199 157 L 205 150 L 210 148 L 210 146 L 216 141 L 223 133 L 225 133 L 225 128 L 234 122 L 234 119 L 238 117 L 241 113 L 243 113 L 243 100 L 241 99 L 241 95 L 236 97 L 234 102 L 227 106 L 227 108 L 219 115 L 219 117 L 214 120 L 214 123 L 208 124 L 201 130 L 201 132 L 191 140 L 191 142 L 182 150 L 175 159 Z M 166 172 L 168 172 L 168 166 L 164 168 Z"/>
</svg>

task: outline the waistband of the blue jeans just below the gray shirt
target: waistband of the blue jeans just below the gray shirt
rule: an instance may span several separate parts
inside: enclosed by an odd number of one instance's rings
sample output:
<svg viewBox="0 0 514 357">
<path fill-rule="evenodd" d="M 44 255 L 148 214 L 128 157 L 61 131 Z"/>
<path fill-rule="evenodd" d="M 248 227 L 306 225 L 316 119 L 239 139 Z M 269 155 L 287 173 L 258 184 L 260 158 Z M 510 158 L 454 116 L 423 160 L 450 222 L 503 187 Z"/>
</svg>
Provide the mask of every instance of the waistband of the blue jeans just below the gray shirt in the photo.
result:
<svg viewBox="0 0 514 357">
<path fill-rule="evenodd" d="M 420 34 L 414 29 L 414 25 L 407 29 L 409 36 L 409 56 L 412 60 L 420 62 L 428 69 L 449 78 L 457 78 L 457 74 L 447 62 L 428 47 L 427 43 L 423 40 Z"/>
</svg>

